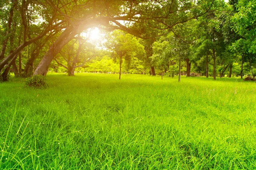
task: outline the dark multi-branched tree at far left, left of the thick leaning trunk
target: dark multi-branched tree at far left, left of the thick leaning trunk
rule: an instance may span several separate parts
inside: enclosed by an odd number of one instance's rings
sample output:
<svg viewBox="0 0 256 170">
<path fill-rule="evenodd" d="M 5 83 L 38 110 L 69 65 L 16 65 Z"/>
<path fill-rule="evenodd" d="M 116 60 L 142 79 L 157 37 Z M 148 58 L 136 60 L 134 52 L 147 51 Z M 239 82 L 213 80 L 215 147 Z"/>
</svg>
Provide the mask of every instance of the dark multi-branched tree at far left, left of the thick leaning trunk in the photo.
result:
<svg viewBox="0 0 256 170">
<path fill-rule="evenodd" d="M 1 13 L 9 13 L 3 14 L 8 17 L 0 20 L 3 29 L 6 30 L 5 35 L 2 34 L 4 37 L 0 53 L 0 73 L 4 79 L 24 48 L 62 29 L 64 21 L 59 20 L 49 6 L 38 1 L 6 1 L 3 7 L 6 10 Z"/>
</svg>

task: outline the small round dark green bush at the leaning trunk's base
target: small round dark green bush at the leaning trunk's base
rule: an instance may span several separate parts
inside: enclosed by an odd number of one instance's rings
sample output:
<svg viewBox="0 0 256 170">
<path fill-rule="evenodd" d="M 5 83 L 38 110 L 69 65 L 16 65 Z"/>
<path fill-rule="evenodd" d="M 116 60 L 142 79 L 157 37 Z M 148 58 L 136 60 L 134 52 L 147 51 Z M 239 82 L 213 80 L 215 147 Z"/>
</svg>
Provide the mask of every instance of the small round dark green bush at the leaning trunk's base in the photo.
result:
<svg viewBox="0 0 256 170">
<path fill-rule="evenodd" d="M 27 79 L 26 85 L 34 88 L 47 88 L 48 85 L 46 81 L 47 79 L 44 76 L 35 75 Z"/>
</svg>

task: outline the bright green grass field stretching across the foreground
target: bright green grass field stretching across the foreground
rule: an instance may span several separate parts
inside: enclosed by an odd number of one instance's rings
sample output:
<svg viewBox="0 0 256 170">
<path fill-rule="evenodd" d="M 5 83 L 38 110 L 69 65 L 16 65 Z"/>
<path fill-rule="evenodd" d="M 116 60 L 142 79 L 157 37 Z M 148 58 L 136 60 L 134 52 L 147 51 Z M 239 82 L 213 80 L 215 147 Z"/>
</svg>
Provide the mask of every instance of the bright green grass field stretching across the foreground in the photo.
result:
<svg viewBox="0 0 256 170">
<path fill-rule="evenodd" d="M 256 169 L 256 83 L 48 74 L 0 84 L 0 169 Z"/>
</svg>

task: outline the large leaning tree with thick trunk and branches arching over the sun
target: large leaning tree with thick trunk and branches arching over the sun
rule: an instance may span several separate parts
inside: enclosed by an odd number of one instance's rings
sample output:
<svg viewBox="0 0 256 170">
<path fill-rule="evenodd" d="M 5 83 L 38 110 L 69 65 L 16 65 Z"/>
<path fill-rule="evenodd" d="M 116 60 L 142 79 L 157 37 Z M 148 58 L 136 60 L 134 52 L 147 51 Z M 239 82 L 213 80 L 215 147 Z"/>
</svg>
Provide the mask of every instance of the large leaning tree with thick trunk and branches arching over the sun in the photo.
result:
<svg viewBox="0 0 256 170">
<path fill-rule="evenodd" d="M 81 31 L 93 26 L 105 29 L 121 29 L 138 37 L 146 28 L 157 32 L 157 36 L 173 31 L 174 26 L 197 18 L 218 6 L 218 0 L 46 0 L 62 20 L 67 21 L 66 29 L 49 48 L 34 74 L 45 75 L 53 57 Z M 125 21 L 125 22 L 124 22 Z M 137 23 L 137 24 L 135 24 Z"/>
</svg>

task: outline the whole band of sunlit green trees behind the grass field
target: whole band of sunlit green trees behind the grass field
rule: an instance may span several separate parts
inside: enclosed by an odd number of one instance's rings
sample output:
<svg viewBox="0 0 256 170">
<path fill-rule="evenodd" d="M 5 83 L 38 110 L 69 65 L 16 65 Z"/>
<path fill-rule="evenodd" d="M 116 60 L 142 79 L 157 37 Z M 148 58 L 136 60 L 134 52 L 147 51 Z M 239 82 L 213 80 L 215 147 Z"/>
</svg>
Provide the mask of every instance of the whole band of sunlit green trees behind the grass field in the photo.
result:
<svg viewBox="0 0 256 170">
<path fill-rule="evenodd" d="M 256 0 L 2 0 L 0 79 L 75 69 L 252 75 Z M 104 48 L 90 42 L 93 28 Z M 106 64 L 108 63 L 108 64 Z M 104 66 L 105 65 L 105 66 Z"/>
</svg>

